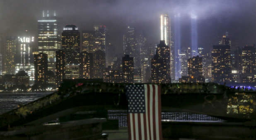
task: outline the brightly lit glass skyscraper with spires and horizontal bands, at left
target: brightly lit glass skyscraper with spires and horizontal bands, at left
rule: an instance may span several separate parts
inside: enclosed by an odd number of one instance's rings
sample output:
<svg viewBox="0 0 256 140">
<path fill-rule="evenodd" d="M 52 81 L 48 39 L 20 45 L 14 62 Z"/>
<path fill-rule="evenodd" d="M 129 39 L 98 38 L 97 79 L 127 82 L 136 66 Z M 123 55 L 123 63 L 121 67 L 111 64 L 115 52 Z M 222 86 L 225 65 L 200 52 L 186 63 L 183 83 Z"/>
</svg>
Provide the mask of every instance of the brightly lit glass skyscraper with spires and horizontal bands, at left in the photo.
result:
<svg viewBox="0 0 256 140">
<path fill-rule="evenodd" d="M 56 13 L 43 11 L 38 22 L 38 51 L 48 55 L 48 70 L 55 72 L 56 51 L 61 49 Z"/>
</svg>

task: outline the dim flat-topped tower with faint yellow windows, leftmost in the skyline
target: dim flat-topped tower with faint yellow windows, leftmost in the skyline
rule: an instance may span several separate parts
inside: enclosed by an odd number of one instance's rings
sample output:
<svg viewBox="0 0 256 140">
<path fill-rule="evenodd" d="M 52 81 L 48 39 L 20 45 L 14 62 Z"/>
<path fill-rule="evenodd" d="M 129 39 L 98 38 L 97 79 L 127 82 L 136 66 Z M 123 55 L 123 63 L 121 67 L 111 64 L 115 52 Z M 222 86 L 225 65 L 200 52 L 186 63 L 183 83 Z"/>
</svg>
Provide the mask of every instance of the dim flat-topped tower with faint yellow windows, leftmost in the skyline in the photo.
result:
<svg viewBox="0 0 256 140">
<path fill-rule="evenodd" d="M 4 71 L 3 74 L 14 74 L 14 57 L 17 47 L 17 37 L 6 37 L 6 49 L 4 49 Z"/>
</svg>

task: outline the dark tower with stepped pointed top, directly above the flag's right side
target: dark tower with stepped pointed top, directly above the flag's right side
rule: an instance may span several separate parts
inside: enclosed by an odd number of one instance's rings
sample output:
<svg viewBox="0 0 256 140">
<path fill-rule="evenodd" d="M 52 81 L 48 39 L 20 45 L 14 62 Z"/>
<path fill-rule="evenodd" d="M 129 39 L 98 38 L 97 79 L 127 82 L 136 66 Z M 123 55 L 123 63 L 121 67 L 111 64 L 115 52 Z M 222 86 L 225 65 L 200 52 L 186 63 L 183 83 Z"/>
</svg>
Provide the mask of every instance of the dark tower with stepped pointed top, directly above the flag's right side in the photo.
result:
<svg viewBox="0 0 256 140">
<path fill-rule="evenodd" d="M 154 58 L 151 60 L 152 83 L 170 83 L 170 48 L 164 40 L 157 45 Z"/>
</svg>

